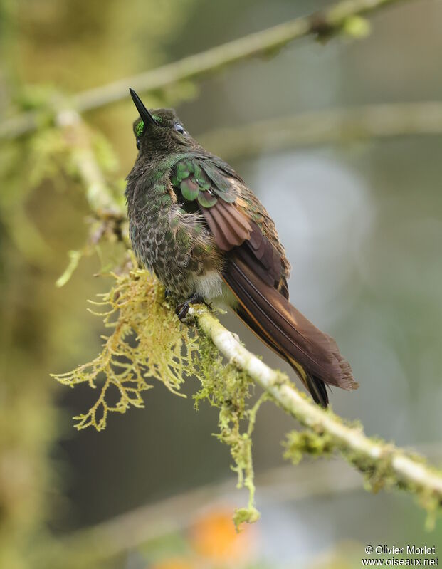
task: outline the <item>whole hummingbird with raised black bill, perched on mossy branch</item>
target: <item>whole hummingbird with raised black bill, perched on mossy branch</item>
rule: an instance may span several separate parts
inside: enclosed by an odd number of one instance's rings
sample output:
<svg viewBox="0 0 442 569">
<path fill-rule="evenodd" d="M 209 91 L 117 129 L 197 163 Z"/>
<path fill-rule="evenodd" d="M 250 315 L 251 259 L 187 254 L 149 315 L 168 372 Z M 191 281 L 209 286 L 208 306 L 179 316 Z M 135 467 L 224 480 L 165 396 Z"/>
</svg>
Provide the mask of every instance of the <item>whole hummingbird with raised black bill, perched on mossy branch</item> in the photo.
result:
<svg viewBox="0 0 442 569">
<path fill-rule="evenodd" d="M 125 191 L 130 240 L 142 266 L 182 299 L 178 317 L 185 319 L 191 303 L 228 306 L 322 407 L 326 386 L 358 387 L 335 340 L 290 303 L 290 263 L 256 195 L 191 137 L 174 110 L 147 110 L 134 90 L 130 95 L 140 114 Z"/>
</svg>

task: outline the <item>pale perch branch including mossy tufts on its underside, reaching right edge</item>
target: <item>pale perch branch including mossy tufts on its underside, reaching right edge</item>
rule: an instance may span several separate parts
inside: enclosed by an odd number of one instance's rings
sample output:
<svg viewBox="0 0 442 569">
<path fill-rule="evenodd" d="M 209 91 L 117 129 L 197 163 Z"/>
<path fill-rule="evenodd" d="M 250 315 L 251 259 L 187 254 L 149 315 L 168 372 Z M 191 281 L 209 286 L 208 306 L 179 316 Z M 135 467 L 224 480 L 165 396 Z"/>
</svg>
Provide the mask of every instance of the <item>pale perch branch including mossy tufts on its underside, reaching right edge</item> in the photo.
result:
<svg viewBox="0 0 442 569">
<path fill-rule="evenodd" d="M 286 458 L 297 463 L 303 454 L 326 456 L 338 451 L 364 475 L 367 489 L 396 487 L 416 496 L 428 512 L 427 526 L 433 526 L 442 508 L 440 469 L 430 466 L 422 456 L 380 438 L 367 437 L 361 424 L 344 421 L 330 409 L 321 409 L 299 392 L 287 375 L 272 370 L 248 352 L 204 307 L 191 308 L 189 312 L 230 362 L 248 372 L 273 402 L 307 429 L 305 433 L 289 435 Z"/>
</svg>

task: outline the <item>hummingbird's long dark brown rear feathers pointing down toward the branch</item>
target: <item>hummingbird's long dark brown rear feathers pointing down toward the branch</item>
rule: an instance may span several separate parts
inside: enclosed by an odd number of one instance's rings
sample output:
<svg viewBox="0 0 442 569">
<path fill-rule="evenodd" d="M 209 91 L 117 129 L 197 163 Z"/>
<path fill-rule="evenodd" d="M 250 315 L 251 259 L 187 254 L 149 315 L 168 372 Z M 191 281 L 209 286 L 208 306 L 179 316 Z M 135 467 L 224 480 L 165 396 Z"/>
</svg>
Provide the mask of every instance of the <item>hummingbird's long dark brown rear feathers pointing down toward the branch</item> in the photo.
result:
<svg viewBox="0 0 442 569">
<path fill-rule="evenodd" d="M 273 286 L 231 256 L 223 280 L 238 300 L 236 314 L 293 367 L 316 403 L 327 407 L 327 385 L 358 387 L 333 338 L 318 330 Z"/>
</svg>

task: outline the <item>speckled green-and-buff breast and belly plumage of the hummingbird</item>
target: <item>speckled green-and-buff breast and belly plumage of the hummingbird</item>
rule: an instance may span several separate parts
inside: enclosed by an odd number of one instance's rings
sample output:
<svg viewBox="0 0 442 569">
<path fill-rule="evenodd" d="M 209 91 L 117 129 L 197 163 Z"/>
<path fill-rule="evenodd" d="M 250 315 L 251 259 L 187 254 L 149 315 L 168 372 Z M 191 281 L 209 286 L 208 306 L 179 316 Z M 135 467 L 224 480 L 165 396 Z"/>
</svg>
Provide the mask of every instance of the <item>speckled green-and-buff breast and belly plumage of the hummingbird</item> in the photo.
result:
<svg viewBox="0 0 442 569">
<path fill-rule="evenodd" d="M 176 159 L 179 157 L 177 156 Z M 132 170 L 127 178 L 130 239 L 144 266 L 169 291 L 188 298 L 196 278 L 220 271 L 221 257 L 199 212 L 187 213 L 171 184 L 173 165 Z"/>
</svg>

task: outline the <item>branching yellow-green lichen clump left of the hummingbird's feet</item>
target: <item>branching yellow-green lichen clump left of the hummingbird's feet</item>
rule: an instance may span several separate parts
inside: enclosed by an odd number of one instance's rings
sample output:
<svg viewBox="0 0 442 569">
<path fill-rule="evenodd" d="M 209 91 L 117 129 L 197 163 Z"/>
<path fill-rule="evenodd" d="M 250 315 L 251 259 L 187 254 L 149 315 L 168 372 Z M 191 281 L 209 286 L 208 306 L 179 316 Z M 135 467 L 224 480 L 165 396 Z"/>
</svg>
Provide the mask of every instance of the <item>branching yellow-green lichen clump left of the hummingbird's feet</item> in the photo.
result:
<svg viewBox="0 0 442 569">
<path fill-rule="evenodd" d="M 93 407 L 75 417 L 77 429 L 95 427 L 100 431 L 106 427 L 110 412 L 125 413 L 130 406 L 144 407 L 142 392 L 152 387 L 147 382 L 152 377 L 181 395 L 181 383 L 194 370 L 191 354 L 196 346 L 192 330 L 169 309 L 157 280 L 147 271 L 137 269 L 114 277 L 116 282 L 111 290 L 93 302 L 102 308 L 93 313 L 102 316 L 105 327 L 112 330 L 102 337 L 102 352 L 92 362 L 54 376 L 70 387 L 88 383 L 95 389 L 102 380 Z M 108 402 L 111 387 L 119 395 L 113 404 Z"/>
</svg>

